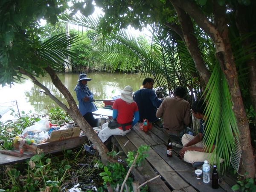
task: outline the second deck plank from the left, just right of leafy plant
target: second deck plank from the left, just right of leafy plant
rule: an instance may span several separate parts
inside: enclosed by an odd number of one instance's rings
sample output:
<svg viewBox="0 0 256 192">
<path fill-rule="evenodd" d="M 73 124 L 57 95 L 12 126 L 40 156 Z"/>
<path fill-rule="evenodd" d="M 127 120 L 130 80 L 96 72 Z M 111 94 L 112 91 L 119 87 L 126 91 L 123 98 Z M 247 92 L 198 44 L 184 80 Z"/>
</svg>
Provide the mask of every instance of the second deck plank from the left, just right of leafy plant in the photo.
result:
<svg viewBox="0 0 256 192">
<path fill-rule="evenodd" d="M 140 138 L 134 130 L 130 131 L 126 136 L 136 147 L 147 145 L 144 138 Z M 182 189 L 189 186 L 176 172 L 172 172 L 173 169 L 152 148 L 150 148 L 148 154 L 149 157 L 147 157 L 147 160 L 149 163 L 173 189 Z"/>
</svg>

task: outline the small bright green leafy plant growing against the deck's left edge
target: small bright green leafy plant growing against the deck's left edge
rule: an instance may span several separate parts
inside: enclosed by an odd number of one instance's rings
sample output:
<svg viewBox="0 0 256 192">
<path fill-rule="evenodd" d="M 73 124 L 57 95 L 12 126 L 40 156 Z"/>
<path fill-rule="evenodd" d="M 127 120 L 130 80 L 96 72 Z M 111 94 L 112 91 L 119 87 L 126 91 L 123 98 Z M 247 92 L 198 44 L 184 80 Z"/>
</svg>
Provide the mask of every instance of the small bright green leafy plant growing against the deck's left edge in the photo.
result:
<svg viewBox="0 0 256 192">
<path fill-rule="evenodd" d="M 138 148 L 137 152 L 129 151 L 127 155 L 128 158 L 126 159 L 128 166 L 125 168 L 120 163 L 108 163 L 107 166 L 103 166 L 103 164 L 100 163 L 100 167 L 104 167 L 104 172 L 100 173 L 100 176 L 102 176 L 102 179 L 104 180 L 104 187 L 106 188 L 107 182 L 110 183 L 113 188 L 116 188 L 117 184 L 121 186 L 127 175 L 129 167 L 131 167 L 132 163 L 134 162 L 136 154 L 139 153 L 139 156 L 137 157 L 134 167 L 142 165 L 142 162 L 145 160 L 146 157 L 148 157 L 148 154 L 146 154 L 145 152 L 148 151 L 149 148 L 150 147 L 148 145 L 141 145 Z M 109 153 L 109 155 L 111 155 L 112 157 L 116 156 L 116 152 L 112 151 L 111 153 Z M 132 189 L 132 182 L 133 179 L 131 177 L 128 177 L 126 184 L 129 187 L 130 191 Z"/>
</svg>

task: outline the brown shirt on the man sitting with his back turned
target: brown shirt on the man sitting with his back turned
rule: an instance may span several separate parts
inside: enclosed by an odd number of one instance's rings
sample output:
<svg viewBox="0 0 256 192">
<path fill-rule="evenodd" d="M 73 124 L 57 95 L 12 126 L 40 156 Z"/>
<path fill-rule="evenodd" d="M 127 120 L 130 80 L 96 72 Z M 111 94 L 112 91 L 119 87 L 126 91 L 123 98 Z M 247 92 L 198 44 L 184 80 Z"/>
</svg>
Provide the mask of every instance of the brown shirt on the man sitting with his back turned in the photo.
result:
<svg viewBox="0 0 256 192">
<path fill-rule="evenodd" d="M 184 99 L 166 97 L 156 112 L 157 118 L 163 117 L 163 127 L 167 132 L 181 131 L 190 123 L 190 105 Z"/>
</svg>

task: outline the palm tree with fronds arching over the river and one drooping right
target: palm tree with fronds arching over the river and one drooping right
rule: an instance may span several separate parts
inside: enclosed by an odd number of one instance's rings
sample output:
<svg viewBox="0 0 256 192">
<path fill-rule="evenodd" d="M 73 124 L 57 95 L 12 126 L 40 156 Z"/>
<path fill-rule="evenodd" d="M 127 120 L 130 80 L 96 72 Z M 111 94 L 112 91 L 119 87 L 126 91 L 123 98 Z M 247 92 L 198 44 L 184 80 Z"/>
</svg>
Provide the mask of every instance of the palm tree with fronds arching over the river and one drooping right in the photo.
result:
<svg viewBox="0 0 256 192">
<path fill-rule="evenodd" d="M 74 17 L 69 18 L 63 15 L 65 22 L 79 24 L 100 32 L 97 29 L 97 18 L 93 17 Z M 144 49 L 136 39 L 127 31 L 120 30 L 115 34 L 108 34 L 94 46 L 96 52 L 100 52 L 102 59 L 107 61 L 112 69 L 115 70 L 118 65 L 133 65 L 141 61 L 143 63 L 143 72 L 146 76 L 154 76 L 160 87 L 167 85 L 169 95 L 177 85 L 189 87 L 190 102 L 195 97 L 201 98 L 202 84 L 200 77 L 195 69 L 195 64 L 186 49 L 183 41 L 168 28 L 160 25 L 151 26 L 152 41 L 151 49 Z M 211 79 L 207 84 L 208 92 L 205 92 L 207 99 L 207 116 L 209 122 L 207 126 L 210 129 L 209 134 L 216 136 L 216 147 L 213 151 L 212 162 L 217 162 L 222 157 L 226 161 L 225 166 L 229 165 L 231 150 L 234 148 L 234 137 L 238 133 L 236 118 L 231 109 L 230 93 L 223 72 L 212 54 L 212 44 L 206 41 L 204 33 L 198 29 L 199 36 L 204 41 L 200 46 L 204 61 L 212 73 Z M 206 44 L 208 42 L 208 44 Z M 215 138 L 215 137 L 212 137 Z M 212 146 L 214 139 L 208 140 L 207 146 Z"/>
</svg>

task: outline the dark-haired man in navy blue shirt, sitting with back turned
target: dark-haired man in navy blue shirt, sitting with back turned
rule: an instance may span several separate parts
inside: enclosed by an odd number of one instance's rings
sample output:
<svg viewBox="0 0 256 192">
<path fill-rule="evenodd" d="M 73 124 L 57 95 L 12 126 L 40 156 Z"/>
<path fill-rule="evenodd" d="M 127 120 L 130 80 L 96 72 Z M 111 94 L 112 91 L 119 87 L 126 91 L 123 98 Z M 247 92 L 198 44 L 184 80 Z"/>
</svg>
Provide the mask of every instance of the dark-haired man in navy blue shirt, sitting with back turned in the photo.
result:
<svg viewBox="0 0 256 192">
<path fill-rule="evenodd" d="M 156 93 L 152 90 L 153 84 L 154 80 L 148 77 L 143 80 L 143 87 L 134 93 L 134 101 L 139 108 L 140 122 L 143 122 L 143 119 L 148 119 L 149 122 L 157 120 L 156 111 L 162 100 L 157 99 Z"/>
</svg>

